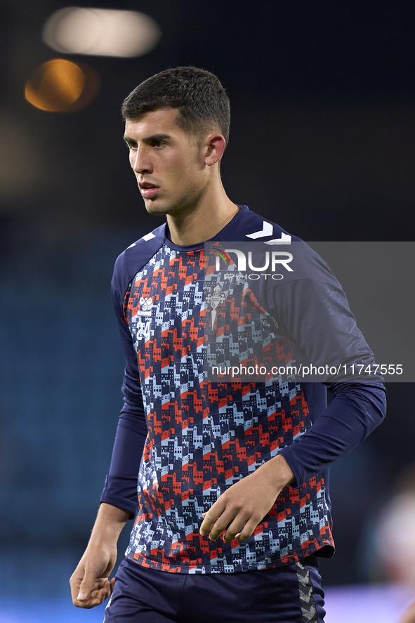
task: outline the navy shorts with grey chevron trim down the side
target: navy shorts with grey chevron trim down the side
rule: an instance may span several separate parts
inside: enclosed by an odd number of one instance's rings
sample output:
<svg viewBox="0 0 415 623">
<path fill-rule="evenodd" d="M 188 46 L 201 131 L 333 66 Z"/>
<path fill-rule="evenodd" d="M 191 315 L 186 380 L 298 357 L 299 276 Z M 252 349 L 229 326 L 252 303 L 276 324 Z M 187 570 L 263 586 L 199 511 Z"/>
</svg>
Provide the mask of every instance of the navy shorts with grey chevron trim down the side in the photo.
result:
<svg viewBox="0 0 415 623">
<path fill-rule="evenodd" d="M 288 567 L 189 575 L 124 559 L 103 623 L 324 623 L 315 556 Z"/>
</svg>

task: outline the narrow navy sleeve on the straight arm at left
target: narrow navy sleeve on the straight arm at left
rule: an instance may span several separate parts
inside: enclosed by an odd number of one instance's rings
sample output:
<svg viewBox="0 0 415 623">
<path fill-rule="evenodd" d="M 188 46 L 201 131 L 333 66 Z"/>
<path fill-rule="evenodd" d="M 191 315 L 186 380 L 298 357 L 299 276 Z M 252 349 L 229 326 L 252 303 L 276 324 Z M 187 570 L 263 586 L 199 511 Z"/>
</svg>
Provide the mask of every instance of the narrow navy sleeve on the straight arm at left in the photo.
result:
<svg viewBox="0 0 415 623">
<path fill-rule="evenodd" d="M 122 385 L 124 406 L 119 415 L 110 472 L 105 478 L 100 502 L 106 502 L 124 511 L 129 511 L 132 518 L 137 511 L 138 471 L 147 437 L 147 424 L 136 352 L 128 324 L 124 318 L 124 296 L 121 296 L 114 287 L 112 287 L 112 301 L 126 357 Z"/>
</svg>

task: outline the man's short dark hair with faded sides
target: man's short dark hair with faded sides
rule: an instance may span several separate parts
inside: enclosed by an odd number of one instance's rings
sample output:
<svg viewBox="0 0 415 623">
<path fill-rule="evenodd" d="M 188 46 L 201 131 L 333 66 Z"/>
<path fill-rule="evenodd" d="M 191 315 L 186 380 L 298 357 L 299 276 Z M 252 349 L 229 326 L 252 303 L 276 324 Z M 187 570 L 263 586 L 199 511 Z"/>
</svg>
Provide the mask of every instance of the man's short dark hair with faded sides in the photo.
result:
<svg viewBox="0 0 415 623">
<path fill-rule="evenodd" d="M 199 67 L 173 67 L 136 86 L 124 100 L 121 113 L 124 119 L 140 114 L 177 108 L 177 124 L 197 137 L 219 130 L 226 143 L 229 140 L 229 98 L 220 80 Z"/>
</svg>

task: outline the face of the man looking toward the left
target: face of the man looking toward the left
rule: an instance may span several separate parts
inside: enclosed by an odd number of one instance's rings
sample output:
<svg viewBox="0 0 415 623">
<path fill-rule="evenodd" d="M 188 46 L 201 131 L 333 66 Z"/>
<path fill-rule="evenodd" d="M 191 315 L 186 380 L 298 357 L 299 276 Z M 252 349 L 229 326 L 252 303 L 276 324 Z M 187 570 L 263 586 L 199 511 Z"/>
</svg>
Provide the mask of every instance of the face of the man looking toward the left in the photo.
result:
<svg viewBox="0 0 415 623">
<path fill-rule="evenodd" d="M 176 108 L 146 112 L 126 119 L 124 140 L 130 164 L 150 214 L 179 214 L 202 197 L 208 181 L 203 142 L 177 124 Z"/>
</svg>

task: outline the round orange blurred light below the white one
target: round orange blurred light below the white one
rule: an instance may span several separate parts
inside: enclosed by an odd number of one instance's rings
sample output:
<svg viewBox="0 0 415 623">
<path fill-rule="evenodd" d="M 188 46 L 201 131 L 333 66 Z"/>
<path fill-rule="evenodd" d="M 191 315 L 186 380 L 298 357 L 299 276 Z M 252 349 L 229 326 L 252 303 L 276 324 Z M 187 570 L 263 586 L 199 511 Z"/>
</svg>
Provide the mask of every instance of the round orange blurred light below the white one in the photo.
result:
<svg viewBox="0 0 415 623">
<path fill-rule="evenodd" d="M 92 67 L 53 58 L 37 67 L 27 80 L 25 98 L 40 110 L 68 113 L 91 104 L 99 88 L 100 77 Z"/>
</svg>

